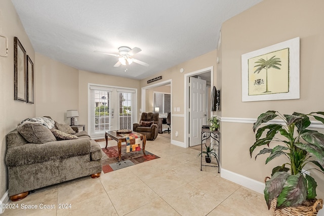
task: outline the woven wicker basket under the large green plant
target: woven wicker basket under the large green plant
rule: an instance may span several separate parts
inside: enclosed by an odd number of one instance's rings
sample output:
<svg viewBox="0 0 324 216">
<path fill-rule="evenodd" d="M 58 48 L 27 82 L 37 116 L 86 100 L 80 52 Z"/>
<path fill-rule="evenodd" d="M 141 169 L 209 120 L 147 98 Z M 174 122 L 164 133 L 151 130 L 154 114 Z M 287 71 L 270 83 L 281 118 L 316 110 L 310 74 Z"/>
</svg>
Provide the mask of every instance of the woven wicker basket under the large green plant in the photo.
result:
<svg viewBox="0 0 324 216">
<path fill-rule="evenodd" d="M 323 200 L 317 199 L 314 202 L 304 202 L 301 206 L 296 207 L 286 207 L 281 209 L 276 209 L 277 199 L 273 199 L 271 202 L 271 211 L 274 216 L 314 216 L 317 215 L 319 209 L 323 207 Z"/>
</svg>

